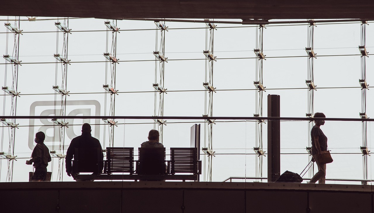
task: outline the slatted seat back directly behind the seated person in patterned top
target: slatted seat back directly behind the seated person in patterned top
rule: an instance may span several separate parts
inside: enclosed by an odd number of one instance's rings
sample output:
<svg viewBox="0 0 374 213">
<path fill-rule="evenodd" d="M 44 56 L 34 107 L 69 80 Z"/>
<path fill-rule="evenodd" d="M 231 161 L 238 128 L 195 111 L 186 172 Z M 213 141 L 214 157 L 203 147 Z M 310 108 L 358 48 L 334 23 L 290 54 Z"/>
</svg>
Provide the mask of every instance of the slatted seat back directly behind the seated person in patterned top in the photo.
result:
<svg viewBox="0 0 374 213">
<path fill-rule="evenodd" d="M 165 147 L 139 148 L 138 174 L 163 175 L 165 172 Z"/>
</svg>

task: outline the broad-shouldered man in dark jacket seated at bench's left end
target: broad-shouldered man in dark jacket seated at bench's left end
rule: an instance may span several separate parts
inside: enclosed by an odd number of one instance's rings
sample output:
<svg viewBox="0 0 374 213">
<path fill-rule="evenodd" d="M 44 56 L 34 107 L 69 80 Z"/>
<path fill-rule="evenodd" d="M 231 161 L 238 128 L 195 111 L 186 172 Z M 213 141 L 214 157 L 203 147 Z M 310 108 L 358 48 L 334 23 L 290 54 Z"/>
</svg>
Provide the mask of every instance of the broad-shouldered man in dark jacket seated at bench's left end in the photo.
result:
<svg viewBox="0 0 374 213">
<path fill-rule="evenodd" d="M 65 159 L 68 176 L 79 172 L 92 172 L 93 174 L 102 172 L 104 155 L 99 140 L 91 136 L 90 124 L 83 124 L 82 135 L 71 140 Z"/>
</svg>

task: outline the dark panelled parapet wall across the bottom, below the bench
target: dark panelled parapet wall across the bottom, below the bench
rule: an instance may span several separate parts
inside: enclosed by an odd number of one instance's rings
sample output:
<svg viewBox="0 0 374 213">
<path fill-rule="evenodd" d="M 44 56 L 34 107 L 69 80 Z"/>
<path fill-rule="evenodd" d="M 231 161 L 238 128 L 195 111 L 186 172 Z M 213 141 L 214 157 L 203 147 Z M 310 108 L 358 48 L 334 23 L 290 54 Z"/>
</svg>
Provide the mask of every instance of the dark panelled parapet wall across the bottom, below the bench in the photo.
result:
<svg viewBox="0 0 374 213">
<path fill-rule="evenodd" d="M 234 182 L 0 183 L 6 212 L 372 213 L 371 185 Z"/>
</svg>

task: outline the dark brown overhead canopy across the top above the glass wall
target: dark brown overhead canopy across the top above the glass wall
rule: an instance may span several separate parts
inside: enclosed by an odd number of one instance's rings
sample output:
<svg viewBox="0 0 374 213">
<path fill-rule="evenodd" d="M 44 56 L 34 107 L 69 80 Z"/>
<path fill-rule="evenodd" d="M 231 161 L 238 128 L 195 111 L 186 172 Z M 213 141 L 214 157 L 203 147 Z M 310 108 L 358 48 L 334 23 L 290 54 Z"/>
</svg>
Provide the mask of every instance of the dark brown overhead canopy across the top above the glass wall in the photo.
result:
<svg viewBox="0 0 374 213">
<path fill-rule="evenodd" d="M 374 18 L 373 0 L 16 0 L 2 16 L 93 18 L 340 19 Z"/>
</svg>

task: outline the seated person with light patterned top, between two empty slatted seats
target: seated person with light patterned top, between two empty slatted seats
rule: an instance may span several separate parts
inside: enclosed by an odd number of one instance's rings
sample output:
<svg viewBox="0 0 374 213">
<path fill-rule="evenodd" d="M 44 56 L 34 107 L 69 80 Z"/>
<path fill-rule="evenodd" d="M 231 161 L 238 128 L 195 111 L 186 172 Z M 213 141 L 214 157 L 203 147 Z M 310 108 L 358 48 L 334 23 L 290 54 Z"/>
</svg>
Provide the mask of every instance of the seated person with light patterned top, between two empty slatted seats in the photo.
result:
<svg viewBox="0 0 374 213">
<path fill-rule="evenodd" d="M 139 149 L 140 170 L 138 170 L 140 174 L 165 174 L 165 148 L 159 142 L 159 136 L 159 131 L 153 129 L 148 133 L 148 141 L 141 144 Z"/>
</svg>

